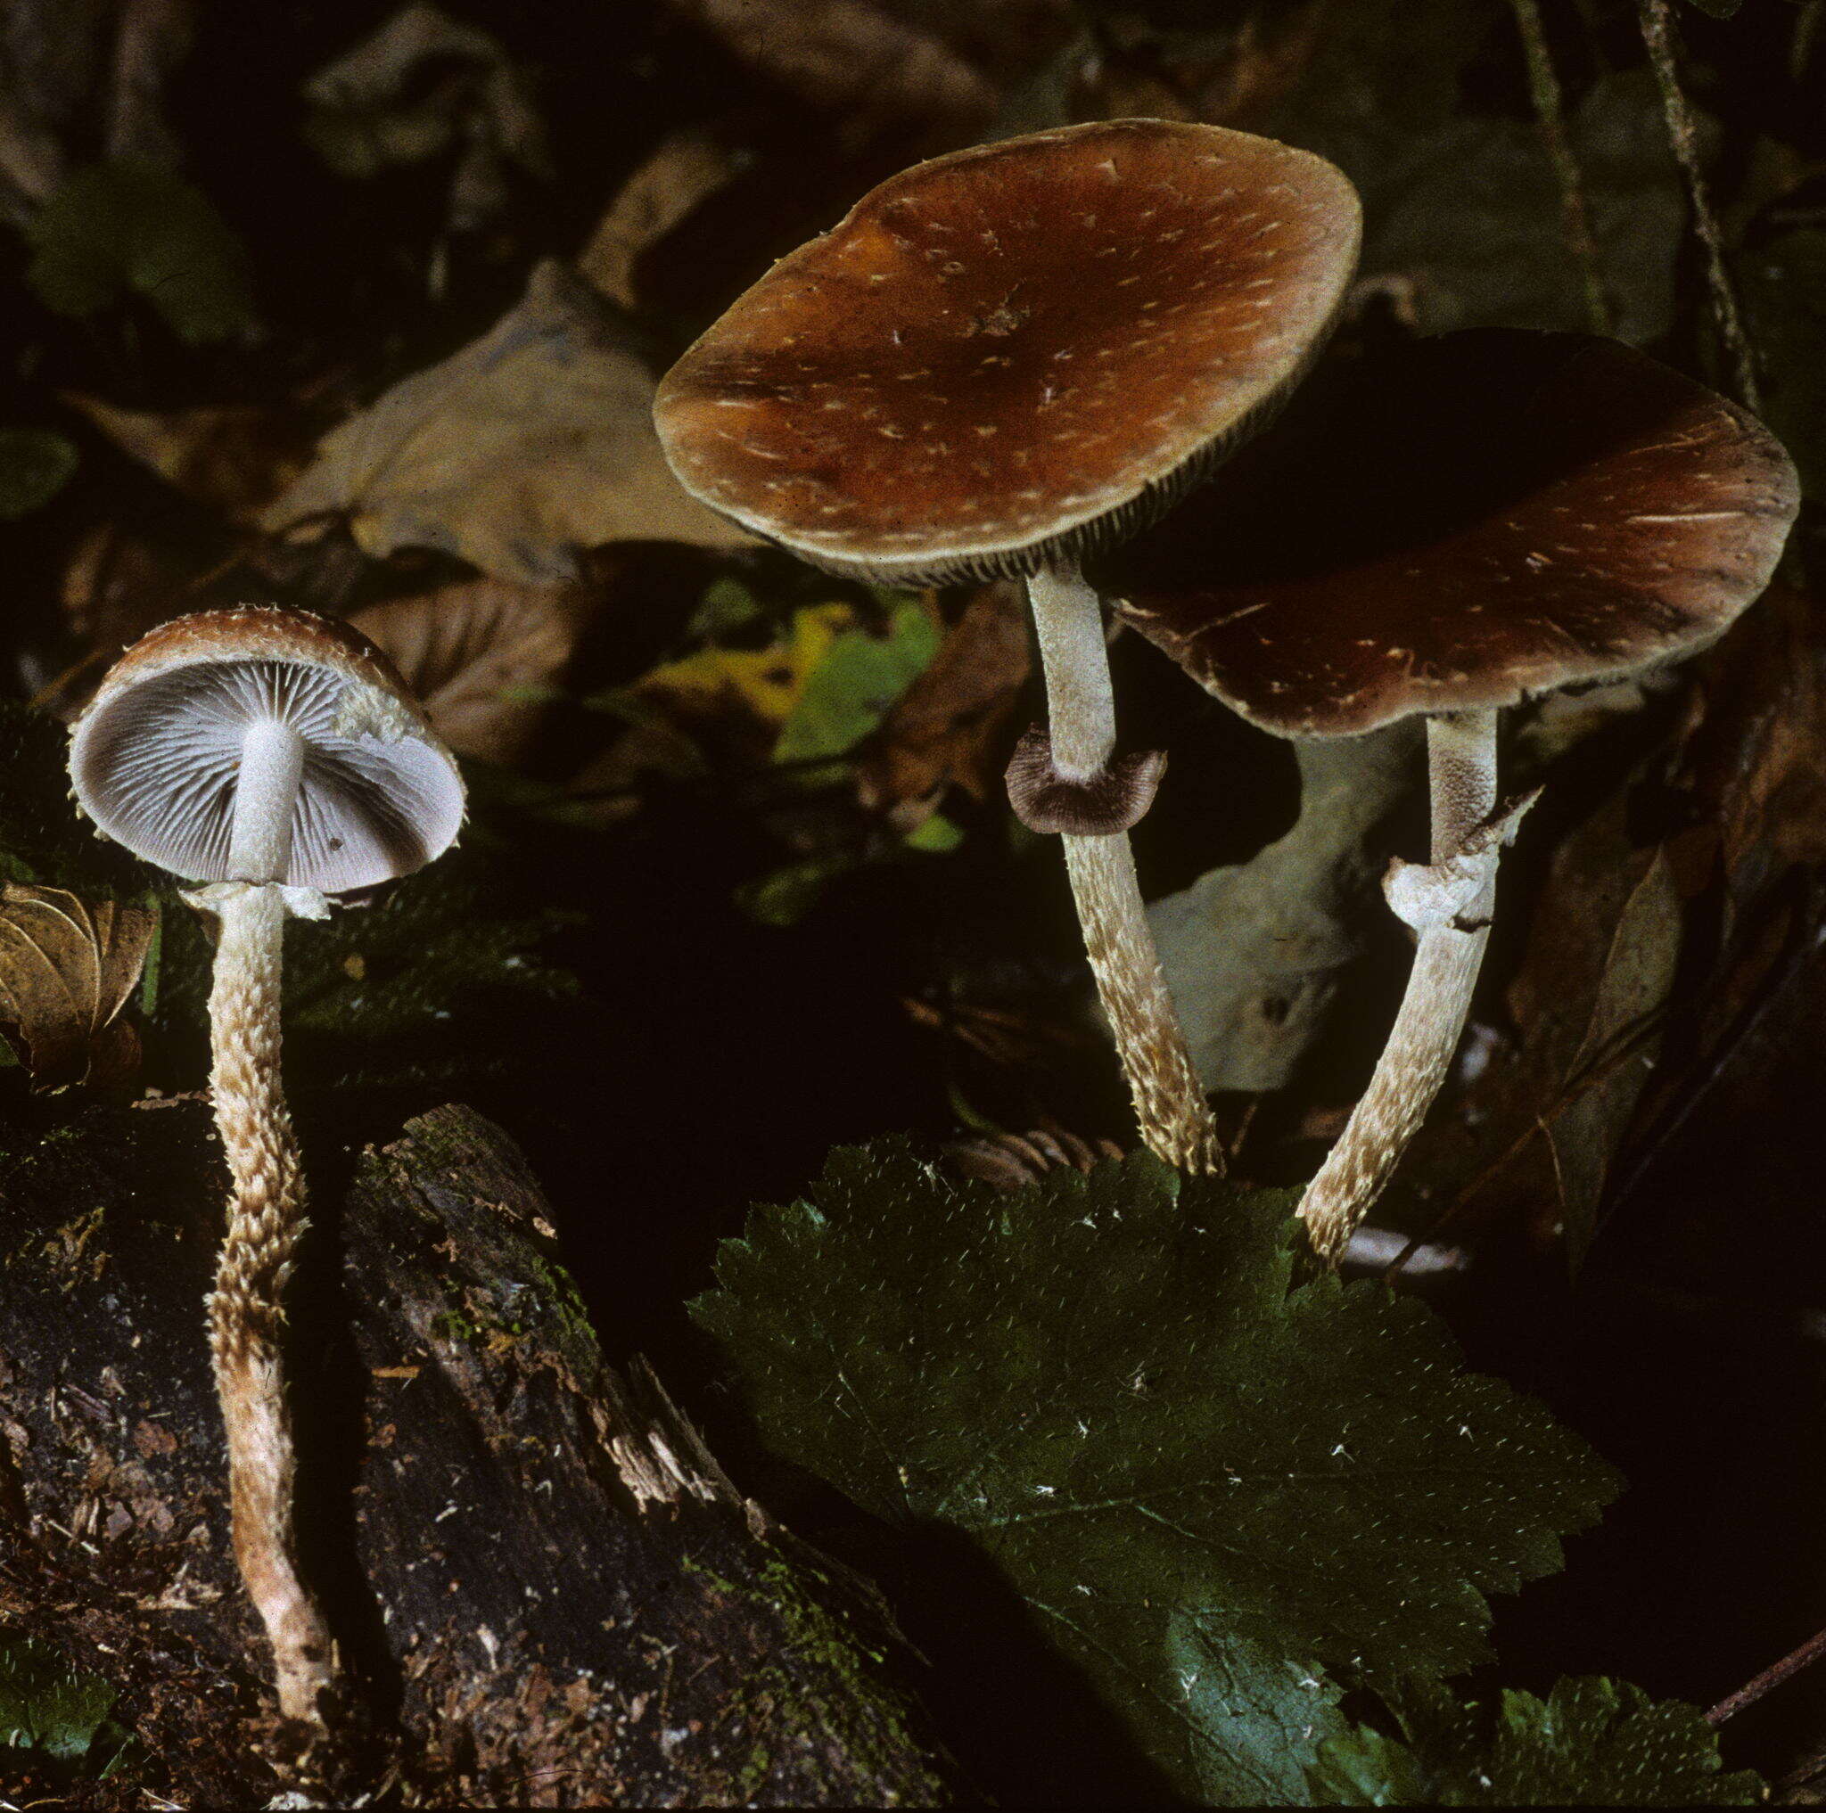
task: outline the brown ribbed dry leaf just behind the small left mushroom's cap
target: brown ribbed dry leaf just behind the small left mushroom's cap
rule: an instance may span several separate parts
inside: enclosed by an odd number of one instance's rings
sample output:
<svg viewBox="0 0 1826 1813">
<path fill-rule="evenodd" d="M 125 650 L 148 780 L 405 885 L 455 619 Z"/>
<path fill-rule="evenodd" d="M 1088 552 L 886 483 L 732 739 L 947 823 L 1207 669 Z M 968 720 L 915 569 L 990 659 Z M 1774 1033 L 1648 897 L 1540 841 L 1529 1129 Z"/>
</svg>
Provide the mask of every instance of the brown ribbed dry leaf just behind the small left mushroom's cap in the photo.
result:
<svg viewBox="0 0 1826 1813">
<path fill-rule="evenodd" d="M 473 579 L 391 599 L 349 621 L 371 635 L 460 756 L 517 761 L 601 599 L 586 586 Z"/>
</svg>

